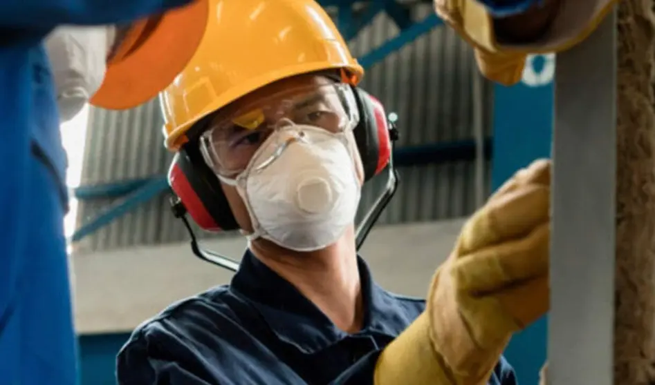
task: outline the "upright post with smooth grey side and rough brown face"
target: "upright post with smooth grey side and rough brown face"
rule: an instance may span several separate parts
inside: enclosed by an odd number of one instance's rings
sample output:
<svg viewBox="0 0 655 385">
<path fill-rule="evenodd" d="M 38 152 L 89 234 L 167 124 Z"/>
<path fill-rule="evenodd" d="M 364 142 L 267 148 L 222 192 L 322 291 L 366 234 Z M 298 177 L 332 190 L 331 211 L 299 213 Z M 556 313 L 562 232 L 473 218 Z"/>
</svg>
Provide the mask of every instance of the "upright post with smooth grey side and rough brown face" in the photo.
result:
<svg viewBox="0 0 655 385">
<path fill-rule="evenodd" d="M 557 61 L 553 385 L 655 384 L 654 2 L 617 8 Z"/>
</svg>

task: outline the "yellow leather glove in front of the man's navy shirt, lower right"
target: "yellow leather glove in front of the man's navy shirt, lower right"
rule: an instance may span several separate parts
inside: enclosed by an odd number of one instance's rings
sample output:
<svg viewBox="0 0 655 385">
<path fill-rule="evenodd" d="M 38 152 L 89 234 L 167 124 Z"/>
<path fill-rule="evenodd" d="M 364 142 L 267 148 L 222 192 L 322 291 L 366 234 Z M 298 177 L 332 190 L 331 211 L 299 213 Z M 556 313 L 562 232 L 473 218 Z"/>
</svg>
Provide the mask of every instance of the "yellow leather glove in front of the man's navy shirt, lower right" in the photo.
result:
<svg viewBox="0 0 655 385">
<path fill-rule="evenodd" d="M 546 313 L 550 170 L 520 170 L 466 222 L 425 312 L 380 355 L 376 385 L 487 384 L 511 335 Z"/>
</svg>

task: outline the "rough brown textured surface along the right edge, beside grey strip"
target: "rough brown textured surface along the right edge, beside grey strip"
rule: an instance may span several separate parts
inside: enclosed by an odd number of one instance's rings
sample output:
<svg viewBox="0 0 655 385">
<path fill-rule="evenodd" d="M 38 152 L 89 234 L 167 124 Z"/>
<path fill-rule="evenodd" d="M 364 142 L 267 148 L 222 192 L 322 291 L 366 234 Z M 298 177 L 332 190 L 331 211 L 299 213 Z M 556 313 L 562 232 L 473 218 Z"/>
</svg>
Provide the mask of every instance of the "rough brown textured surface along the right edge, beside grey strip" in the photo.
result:
<svg viewBox="0 0 655 385">
<path fill-rule="evenodd" d="M 654 6 L 618 6 L 616 385 L 655 384 Z"/>
</svg>

